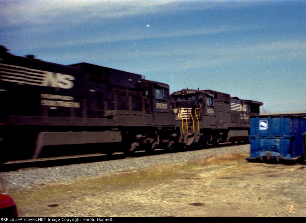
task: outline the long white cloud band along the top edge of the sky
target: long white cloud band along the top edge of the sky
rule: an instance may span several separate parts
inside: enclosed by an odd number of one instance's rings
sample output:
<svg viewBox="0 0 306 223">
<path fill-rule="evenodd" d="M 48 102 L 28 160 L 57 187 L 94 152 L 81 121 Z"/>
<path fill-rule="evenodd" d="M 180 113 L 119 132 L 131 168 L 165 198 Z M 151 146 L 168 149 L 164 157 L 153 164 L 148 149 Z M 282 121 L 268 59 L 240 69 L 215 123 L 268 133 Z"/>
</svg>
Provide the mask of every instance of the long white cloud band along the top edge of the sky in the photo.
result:
<svg viewBox="0 0 306 223">
<path fill-rule="evenodd" d="M 0 1 L 1 27 L 21 24 L 49 24 L 62 19 L 78 23 L 79 20 L 118 18 L 147 14 L 175 13 L 178 11 L 211 8 L 237 8 L 261 1 L 177 1 L 177 0 L 51 0 Z"/>
</svg>

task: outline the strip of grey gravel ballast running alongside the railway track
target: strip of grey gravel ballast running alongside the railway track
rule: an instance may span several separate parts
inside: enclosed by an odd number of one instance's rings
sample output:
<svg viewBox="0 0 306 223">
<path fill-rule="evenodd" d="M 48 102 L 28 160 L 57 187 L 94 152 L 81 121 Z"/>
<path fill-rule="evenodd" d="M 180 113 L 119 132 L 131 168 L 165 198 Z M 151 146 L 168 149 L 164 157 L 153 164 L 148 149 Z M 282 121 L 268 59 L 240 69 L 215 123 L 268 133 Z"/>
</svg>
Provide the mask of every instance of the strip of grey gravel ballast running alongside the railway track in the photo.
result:
<svg viewBox="0 0 306 223">
<path fill-rule="evenodd" d="M 231 152 L 248 153 L 249 144 L 209 148 L 177 153 L 158 154 L 154 156 L 129 157 L 119 160 L 54 166 L 47 168 L 21 169 L 0 173 L 2 176 L 2 193 L 16 189 L 31 188 L 41 184 L 73 180 L 80 177 L 98 177 L 124 173 L 140 168 L 185 162 L 212 155 Z M 4 191 L 6 190 L 6 191 Z"/>
</svg>

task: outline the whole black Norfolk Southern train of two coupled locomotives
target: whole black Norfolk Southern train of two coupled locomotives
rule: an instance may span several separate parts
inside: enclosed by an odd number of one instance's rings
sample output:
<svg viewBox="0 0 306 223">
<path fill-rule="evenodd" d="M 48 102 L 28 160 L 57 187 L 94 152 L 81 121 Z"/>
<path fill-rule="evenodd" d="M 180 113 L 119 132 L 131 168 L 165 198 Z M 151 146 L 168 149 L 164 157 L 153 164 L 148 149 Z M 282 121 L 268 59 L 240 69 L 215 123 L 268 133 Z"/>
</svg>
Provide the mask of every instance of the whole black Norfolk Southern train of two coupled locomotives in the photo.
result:
<svg viewBox="0 0 306 223">
<path fill-rule="evenodd" d="M 183 89 L 89 63 L 61 65 L 0 46 L 0 146 L 5 160 L 45 151 L 102 154 L 248 141 L 262 102 Z M 69 149 L 68 149 L 69 148 Z"/>
</svg>

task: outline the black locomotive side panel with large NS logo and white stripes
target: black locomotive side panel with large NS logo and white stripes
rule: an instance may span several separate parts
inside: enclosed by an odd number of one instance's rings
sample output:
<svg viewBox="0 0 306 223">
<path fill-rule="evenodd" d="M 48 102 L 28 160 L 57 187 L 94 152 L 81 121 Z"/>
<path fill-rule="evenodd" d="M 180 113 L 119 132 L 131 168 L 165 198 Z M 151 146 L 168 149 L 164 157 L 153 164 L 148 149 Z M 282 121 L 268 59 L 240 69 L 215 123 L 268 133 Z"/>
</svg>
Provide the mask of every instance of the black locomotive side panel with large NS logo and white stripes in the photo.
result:
<svg viewBox="0 0 306 223">
<path fill-rule="evenodd" d="M 2 57 L 0 69 L 0 86 L 7 102 L 2 115 L 5 123 L 58 125 L 63 120 L 46 117 L 81 115 L 78 70 L 10 55 Z"/>
</svg>

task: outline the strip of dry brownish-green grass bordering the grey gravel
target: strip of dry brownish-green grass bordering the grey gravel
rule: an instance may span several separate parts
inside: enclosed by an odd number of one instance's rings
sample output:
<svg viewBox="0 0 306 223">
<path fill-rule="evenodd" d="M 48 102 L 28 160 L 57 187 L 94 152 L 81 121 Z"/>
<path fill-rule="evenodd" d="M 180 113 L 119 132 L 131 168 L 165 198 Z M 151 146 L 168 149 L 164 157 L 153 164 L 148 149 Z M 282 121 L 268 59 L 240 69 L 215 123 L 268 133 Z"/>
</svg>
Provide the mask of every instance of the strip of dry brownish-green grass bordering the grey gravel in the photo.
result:
<svg viewBox="0 0 306 223">
<path fill-rule="evenodd" d="M 73 194 L 96 194 L 99 193 L 97 191 L 110 189 L 116 191 L 125 191 L 128 188 L 140 189 L 149 185 L 171 182 L 182 177 L 193 177 L 207 165 L 226 165 L 231 162 L 244 161 L 247 156 L 248 154 L 238 153 L 210 156 L 185 163 L 133 170 L 113 176 L 86 177 L 61 183 L 44 184 L 21 191 L 11 191 L 9 195 L 13 195 L 19 205 L 27 206 L 37 200 L 53 200 L 53 197 L 57 197 L 58 194 L 61 194 L 62 198 L 69 199 L 69 196 Z M 3 180 L 1 182 L 4 182 Z M 2 185 L 3 188 L 5 185 Z"/>
</svg>

